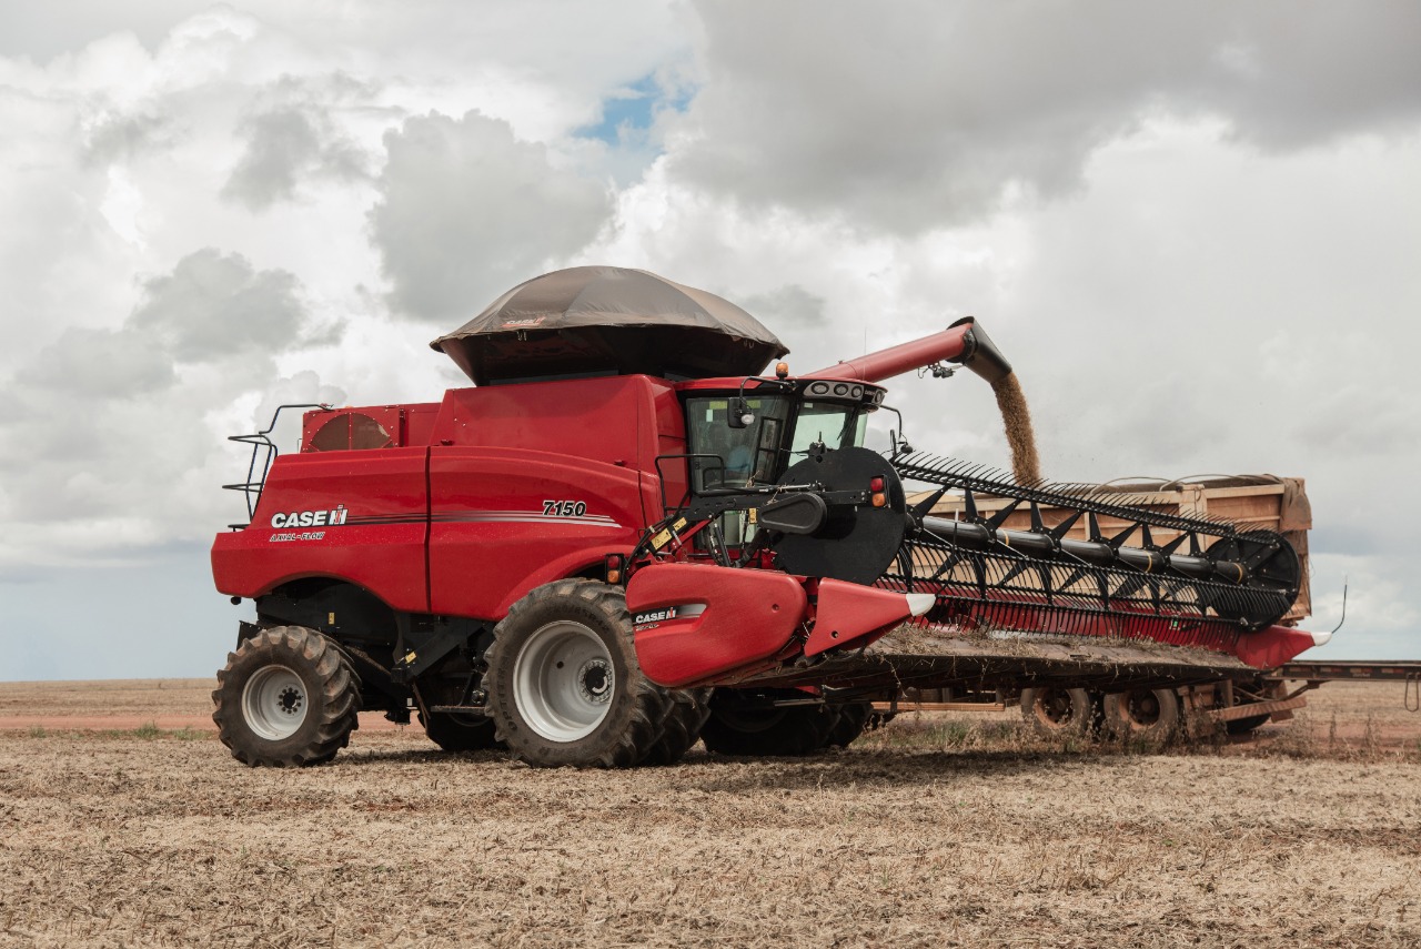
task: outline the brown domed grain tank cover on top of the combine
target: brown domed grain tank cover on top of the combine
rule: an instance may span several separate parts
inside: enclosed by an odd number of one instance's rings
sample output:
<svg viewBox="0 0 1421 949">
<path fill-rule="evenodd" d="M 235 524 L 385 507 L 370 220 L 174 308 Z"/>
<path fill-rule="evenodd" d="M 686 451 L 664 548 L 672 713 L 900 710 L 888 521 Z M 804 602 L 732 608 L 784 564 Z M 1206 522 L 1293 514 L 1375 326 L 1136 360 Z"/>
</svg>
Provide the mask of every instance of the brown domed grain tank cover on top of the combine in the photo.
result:
<svg viewBox="0 0 1421 949">
<path fill-rule="evenodd" d="M 789 352 L 733 303 L 625 267 L 534 277 L 429 345 L 479 385 L 635 372 L 756 375 Z"/>
</svg>

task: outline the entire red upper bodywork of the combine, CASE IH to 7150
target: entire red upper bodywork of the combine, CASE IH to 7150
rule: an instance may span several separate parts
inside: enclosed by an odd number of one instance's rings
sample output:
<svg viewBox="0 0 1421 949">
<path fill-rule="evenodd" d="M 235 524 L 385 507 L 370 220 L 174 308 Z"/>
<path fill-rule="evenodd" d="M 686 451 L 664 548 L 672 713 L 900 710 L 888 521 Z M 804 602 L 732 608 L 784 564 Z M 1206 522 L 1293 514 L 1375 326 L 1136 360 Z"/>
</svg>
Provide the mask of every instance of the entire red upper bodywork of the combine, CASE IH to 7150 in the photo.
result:
<svg viewBox="0 0 1421 949">
<path fill-rule="evenodd" d="M 213 544 L 213 574 L 240 597 L 333 577 L 395 609 L 500 619 L 533 587 L 631 553 L 662 516 L 655 457 L 685 443 L 675 386 L 649 376 L 308 412 L 252 526 Z M 284 523 L 338 506 L 344 523 Z"/>
</svg>

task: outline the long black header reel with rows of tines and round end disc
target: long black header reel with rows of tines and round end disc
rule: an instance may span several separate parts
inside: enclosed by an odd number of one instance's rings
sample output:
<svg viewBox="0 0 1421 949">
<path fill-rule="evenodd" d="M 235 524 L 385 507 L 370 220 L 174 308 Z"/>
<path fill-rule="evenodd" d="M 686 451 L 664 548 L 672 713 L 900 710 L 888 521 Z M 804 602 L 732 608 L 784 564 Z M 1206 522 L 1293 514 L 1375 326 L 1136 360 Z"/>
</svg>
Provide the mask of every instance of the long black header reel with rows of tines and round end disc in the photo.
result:
<svg viewBox="0 0 1421 949">
<path fill-rule="evenodd" d="M 909 510 L 904 480 L 938 490 Z M 949 490 L 961 492 L 963 516 L 928 514 Z M 986 496 L 1009 503 L 986 516 L 978 509 Z M 759 528 L 739 560 L 720 551 L 722 565 L 755 561 L 800 577 L 931 592 L 936 605 L 926 621 L 995 634 L 1221 648 L 1282 619 L 1302 581 L 1302 563 L 1280 534 L 1154 511 L 1096 486 L 1023 486 L 921 453 L 890 460 L 816 446 L 777 484 L 692 501 L 678 519 L 689 534 L 736 509 L 755 510 Z M 1029 513 L 1029 530 L 1002 527 L 1015 511 Z M 1110 534 L 1106 521 L 1114 521 Z"/>
</svg>

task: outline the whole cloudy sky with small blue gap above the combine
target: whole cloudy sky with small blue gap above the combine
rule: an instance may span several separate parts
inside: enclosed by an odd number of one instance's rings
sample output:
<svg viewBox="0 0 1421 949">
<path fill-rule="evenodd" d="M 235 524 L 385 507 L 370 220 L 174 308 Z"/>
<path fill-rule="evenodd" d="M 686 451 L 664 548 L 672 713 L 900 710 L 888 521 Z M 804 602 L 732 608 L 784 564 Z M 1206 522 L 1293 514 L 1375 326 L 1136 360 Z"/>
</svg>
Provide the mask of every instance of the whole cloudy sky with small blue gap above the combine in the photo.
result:
<svg viewBox="0 0 1421 949">
<path fill-rule="evenodd" d="M 803 371 L 973 314 L 1049 477 L 1306 477 L 1317 655 L 1421 658 L 1418 47 L 1410 1 L 0 3 L 0 679 L 212 673 L 225 438 L 436 399 L 429 340 L 583 263 Z M 892 391 L 1006 463 L 973 376 Z"/>
</svg>

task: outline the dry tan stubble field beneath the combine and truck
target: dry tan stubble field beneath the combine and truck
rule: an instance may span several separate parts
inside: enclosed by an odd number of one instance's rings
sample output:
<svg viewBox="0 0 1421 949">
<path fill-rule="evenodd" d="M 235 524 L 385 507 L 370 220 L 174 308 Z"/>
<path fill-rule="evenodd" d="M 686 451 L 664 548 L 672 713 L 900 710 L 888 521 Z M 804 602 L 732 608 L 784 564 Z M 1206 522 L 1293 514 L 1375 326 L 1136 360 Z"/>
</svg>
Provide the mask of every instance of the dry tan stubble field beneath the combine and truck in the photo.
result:
<svg viewBox="0 0 1421 949">
<path fill-rule="evenodd" d="M 605 773 L 374 720 L 333 766 L 249 770 L 196 729 L 210 685 L 0 685 L 0 945 L 1421 943 L 1400 686 L 1327 686 L 1249 746 L 901 716 Z"/>
</svg>

